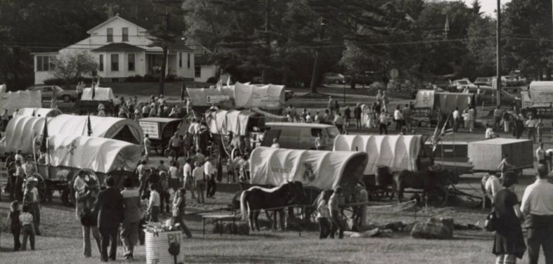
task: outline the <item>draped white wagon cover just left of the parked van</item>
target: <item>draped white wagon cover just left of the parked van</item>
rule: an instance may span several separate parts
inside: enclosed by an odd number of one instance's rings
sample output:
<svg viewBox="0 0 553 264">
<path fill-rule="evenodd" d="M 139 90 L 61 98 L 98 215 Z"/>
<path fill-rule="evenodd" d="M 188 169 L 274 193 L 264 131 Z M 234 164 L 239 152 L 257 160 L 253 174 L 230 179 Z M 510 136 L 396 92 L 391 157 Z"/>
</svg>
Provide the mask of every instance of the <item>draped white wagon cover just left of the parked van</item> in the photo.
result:
<svg viewBox="0 0 553 264">
<path fill-rule="evenodd" d="M 260 114 L 239 110 L 217 110 L 215 112 L 209 110 L 205 113 L 210 132 L 219 135 L 227 135 L 232 132 L 234 135 L 246 136 L 248 122 L 255 116 L 260 116 Z"/>
</svg>

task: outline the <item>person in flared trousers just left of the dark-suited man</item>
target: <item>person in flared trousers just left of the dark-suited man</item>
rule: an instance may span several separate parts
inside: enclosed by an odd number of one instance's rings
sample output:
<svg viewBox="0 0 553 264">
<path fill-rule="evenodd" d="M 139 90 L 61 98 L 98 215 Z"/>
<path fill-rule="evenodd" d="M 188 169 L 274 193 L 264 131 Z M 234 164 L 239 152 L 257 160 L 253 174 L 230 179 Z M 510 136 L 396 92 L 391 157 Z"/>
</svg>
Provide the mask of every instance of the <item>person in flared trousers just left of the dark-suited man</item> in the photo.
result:
<svg viewBox="0 0 553 264">
<path fill-rule="evenodd" d="M 84 179 L 84 176 L 84 173 L 79 173 L 79 178 L 82 177 L 82 179 Z M 84 258 L 90 258 L 92 256 L 90 244 L 91 234 L 96 241 L 96 246 L 98 246 L 98 253 L 102 251 L 100 232 L 96 226 L 98 214 L 94 211 L 94 202 L 96 201 L 96 197 L 98 197 L 100 189 L 96 178 L 89 177 L 88 180 L 82 180 L 82 183 L 84 184 L 82 189 L 76 189 L 76 211 L 77 219 L 80 221 L 82 227 L 82 256 Z"/>
</svg>

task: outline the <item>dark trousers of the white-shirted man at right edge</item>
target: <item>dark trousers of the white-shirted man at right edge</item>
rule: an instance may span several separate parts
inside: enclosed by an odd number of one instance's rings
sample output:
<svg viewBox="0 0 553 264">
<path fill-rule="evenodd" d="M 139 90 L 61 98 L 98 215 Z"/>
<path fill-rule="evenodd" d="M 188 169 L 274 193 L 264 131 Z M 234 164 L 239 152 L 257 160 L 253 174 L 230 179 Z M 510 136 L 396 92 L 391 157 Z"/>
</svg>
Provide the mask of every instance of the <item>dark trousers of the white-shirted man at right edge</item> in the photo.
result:
<svg viewBox="0 0 553 264">
<path fill-rule="evenodd" d="M 545 255 L 545 264 L 553 264 L 553 227 L 528 228 L 528 260 L 530 264 L 538 264 L 540 246 Z"/>
</svg>

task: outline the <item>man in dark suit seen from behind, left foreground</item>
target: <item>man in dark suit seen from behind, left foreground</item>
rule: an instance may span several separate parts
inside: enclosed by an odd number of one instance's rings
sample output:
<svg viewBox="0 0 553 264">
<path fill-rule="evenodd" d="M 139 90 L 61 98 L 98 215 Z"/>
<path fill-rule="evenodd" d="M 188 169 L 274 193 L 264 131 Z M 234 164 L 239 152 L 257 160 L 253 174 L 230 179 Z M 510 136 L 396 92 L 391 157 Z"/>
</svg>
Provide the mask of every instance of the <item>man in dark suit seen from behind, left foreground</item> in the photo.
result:
<svg viewBox="0 0 553 264">
<path fill-rule="evenodd" d="M 94 206 L 94 210 L 98 213 L 98 230 L 102 237 L 102 261 L 108 261 L 108 258 L 115 260 L 117 232 L 119 231 L 119 225 L 125 218 L 124 199 L 119 190 L 115 188 L 115 179 L 110 176 L 106 178 L 105 182 L 107 188 L 98 193 L 98 199 L 96 199 Z M 110 244 L 111 247 L 108 253 Z"/>
</svg>

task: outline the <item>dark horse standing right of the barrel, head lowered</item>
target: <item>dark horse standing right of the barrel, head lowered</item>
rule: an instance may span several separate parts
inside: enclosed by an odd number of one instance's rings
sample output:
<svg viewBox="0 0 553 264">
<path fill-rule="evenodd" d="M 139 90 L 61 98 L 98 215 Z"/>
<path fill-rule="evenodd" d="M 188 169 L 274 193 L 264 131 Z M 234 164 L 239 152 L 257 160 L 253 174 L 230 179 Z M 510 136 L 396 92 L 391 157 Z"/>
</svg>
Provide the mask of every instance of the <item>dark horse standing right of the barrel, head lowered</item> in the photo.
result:
<svg viewBox="0 0 553 264">
<path fill-rule="evenodd" d="M 394 173 L 393 175 L 393 187 L 394 193 L 398 194 L 398 202 L 402 202 L 403 192 L 405 188 L 412 188 L 415 190 L 423 191 L 423 199 L 428 206 L 429 195 L 436 195 L 436 199 L 445 199 L 447 202 L 447 193 L 443 187 L 443 179 L 438 175 L 439 173 L 431 169 L 425 169 L 423 171 L 407 171 L 402 170 Z"/>
</svg>

